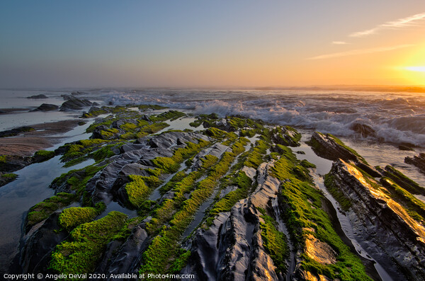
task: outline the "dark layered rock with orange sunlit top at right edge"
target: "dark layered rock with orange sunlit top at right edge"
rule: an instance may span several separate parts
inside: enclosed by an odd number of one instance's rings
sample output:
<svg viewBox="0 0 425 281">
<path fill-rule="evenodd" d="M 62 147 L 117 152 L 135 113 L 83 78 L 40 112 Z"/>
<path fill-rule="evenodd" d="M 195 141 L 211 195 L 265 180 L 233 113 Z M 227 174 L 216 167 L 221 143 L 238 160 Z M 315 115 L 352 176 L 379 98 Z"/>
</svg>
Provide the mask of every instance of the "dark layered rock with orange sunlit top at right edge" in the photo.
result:
<svg viewBox="0 0 425 281">
<path fill-rule="evenodd" d="M 394 260 L 409 280 L 425 280 L 425 228 L 387 190 L 343 160 L 334 162 L 330 183 L 351 202 L 354 231 Z"/>
</svg>

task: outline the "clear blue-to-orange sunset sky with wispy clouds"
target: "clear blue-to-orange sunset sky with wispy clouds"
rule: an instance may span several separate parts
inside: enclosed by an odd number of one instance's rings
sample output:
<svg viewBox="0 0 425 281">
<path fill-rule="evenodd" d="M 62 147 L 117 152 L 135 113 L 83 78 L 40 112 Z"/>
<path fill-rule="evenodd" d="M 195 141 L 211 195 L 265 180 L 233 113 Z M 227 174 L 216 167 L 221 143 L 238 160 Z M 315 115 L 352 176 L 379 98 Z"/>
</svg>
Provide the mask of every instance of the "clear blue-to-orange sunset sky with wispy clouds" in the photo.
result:
<svg viewBox="0 0 425 281">
<path fill-rule="evenodd" d="M 424 0 L 0 1 L 0 88 L 425 85 Z"/>
</svg>

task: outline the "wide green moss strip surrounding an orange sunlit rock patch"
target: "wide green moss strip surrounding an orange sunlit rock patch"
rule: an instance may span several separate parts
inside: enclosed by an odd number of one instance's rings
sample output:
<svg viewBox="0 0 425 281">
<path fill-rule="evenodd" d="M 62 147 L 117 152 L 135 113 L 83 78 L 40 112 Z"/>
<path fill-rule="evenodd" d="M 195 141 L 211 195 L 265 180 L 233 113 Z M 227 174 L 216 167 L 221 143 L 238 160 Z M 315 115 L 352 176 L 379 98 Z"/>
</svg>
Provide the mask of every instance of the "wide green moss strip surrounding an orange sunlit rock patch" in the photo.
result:
<svg viewBox="0 0 425 281">
<path fill-rule="evenodd" d="M 280 149 L 283 149 L 282 147 Z M 324 195 L 314 186 L 293 173 L 297 161 L 295 156 L 281 157 L 272 168 L 273 174 L 282 183 L 279 195 L 280 205 L 284 207 L 285 219 L 290 238 L 297 248 L 305 247 L 306 235 L 313 235 L 327 243 L 336 252 L 335 264 L 322 264 L 302 254 L 301 268 L 315 274 L 326 275 L 332 280 L 371 280 L 356 254 L 341 241 L 332 227 L 331 220 L 322 210 Z"/>
</svg>

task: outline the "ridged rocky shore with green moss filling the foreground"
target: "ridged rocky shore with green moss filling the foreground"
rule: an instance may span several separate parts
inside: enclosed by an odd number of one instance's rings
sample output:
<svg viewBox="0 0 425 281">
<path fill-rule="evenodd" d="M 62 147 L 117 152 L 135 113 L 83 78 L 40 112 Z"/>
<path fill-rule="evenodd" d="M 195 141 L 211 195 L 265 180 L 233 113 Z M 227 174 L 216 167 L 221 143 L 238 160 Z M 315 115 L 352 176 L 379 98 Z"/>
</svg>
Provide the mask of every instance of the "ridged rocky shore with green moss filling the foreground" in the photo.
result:
<svg viewBox="0 0 425 281">
<path fill-rule="evenodd" d="M 28 210 L 11 272 L 380 280 L 338 229 L 315 166 L 290 149 L 294 128 L 157 105 L 92 106 L 81 117 L 103 114 L 90 139 L 54 152 L 66 166 L 95 163 L 53 180 L 55 195 Z M 167 130 L 174 120 L 186 130 Z M 330 134 L 309 144 L 334 161 L 327 190 L 373 258 L 394 277 L 425 280 L 425 204 L 412 195 L 424 188 Z M 137 215 L 108 212 L 112 202 Z"/>
</svg>

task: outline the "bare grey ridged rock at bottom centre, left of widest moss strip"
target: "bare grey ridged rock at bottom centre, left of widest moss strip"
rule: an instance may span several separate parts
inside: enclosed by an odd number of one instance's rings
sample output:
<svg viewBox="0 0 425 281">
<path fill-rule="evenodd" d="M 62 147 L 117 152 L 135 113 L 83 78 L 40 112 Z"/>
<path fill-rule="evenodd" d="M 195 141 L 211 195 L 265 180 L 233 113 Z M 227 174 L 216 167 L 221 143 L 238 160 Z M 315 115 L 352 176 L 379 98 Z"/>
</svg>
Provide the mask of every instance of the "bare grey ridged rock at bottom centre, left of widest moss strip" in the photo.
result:
<svg viewBox="0 0 425 281">
<path fill-rule="evenodd" d="M 253 195 L 237 202 L 230 212 L 220 213 L 209 229 L 196 230 L 192 256 L 182 273 L 196 273 L 196 280 L 283 280 L 263 247 L 257 210 L 271 206 L 280 182 L 268 175 L 266 164 L 260 169 L 260 184 Z"/>
</svg>

